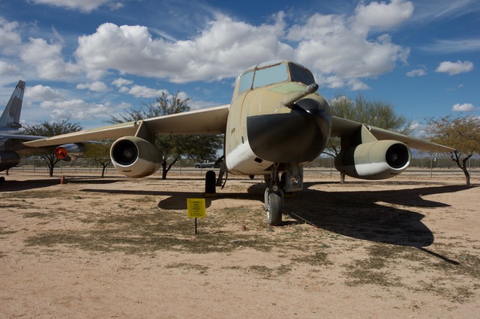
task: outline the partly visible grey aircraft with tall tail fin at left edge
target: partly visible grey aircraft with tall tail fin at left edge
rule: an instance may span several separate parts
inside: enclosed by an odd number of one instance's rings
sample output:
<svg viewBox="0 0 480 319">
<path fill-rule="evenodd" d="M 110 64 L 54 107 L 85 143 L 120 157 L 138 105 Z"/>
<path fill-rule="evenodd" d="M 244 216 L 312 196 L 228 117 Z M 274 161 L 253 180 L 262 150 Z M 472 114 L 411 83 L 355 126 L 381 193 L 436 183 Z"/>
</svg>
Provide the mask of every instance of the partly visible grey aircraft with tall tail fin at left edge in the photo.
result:
<svg viewBox="0 0 480 319">
<path fill-rule="evenodd" d="M 19 80 L 15 90 L 0 116 L 0 171 L 6 171 L 20 163 L 21 155 L 35 155 L 44 151 L 53 151 L 49 148 L 32 148 L 23 145 L 25 141 L 45 139 L 45 136 L 32 136 L 20 134 L 20 113 L 22 112 L 23 94 L 25 81 Z M 85 153 L 83 144 L 66 144 L 60 149 L 69 150 L 67 160 L 75 160 Z M 0 176 L 0 183 L 4 183 L 4 176 Z"/>
</svg>

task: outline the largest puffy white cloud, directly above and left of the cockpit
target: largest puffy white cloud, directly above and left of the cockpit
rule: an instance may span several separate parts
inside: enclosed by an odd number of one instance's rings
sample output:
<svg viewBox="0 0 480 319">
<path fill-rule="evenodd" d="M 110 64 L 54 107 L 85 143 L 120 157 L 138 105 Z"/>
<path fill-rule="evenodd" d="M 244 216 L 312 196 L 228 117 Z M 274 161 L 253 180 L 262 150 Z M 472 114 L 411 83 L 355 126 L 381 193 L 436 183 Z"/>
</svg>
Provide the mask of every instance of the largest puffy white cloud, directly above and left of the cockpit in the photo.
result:
<svg viewBox="0 0 480 319">
<path fill-rule="evenodd" d="M 282 14 L 276 19 L 275 24 L 255 27 L 218 15 L 196 38 L 176 42 L 152 38 L 146 27 L 105 23 L 95 34 L 78 39 L 75 55 L 90 78 L 117 69 L 174 83 L 220 80 L 259 61 L 292 55 L 292 48 L 279 41 Z"/>
</svg>

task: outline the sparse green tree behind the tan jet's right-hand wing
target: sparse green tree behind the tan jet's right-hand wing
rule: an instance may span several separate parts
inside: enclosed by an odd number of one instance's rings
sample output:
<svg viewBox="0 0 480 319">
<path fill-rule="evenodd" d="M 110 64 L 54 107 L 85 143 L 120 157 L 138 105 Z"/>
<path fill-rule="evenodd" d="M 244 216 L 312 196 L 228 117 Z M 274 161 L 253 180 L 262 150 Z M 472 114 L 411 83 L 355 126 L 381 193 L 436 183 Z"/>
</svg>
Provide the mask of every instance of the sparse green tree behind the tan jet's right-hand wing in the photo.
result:
<svg viewBox="0 0 480 319">
<path fill-rule="evenodd" d="M 365 99 L 362 95 L 358 95 L 355 100 L 352 100 L 341 95 L 329 101 L 329 105 L 331 114 L 338 118 L 390 129 L 402 134 L 411 132 L 409 120 L 395 113 L 394 106 L 389 102 Z M 336 157 L 340 151 L 340 137 L 331 137 L 324 153 Z M 340 174 L 340 180 L 341 183 L 345 183 L 345 173 Z"/>
</svg>

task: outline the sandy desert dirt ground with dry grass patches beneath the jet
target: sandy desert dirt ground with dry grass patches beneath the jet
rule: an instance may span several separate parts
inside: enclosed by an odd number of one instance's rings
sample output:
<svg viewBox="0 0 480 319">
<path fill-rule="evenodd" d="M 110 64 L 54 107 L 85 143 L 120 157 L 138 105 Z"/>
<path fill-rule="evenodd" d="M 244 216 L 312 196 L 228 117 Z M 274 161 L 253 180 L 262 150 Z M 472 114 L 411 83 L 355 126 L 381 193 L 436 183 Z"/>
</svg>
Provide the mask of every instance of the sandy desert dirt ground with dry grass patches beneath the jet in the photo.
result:
<svg viewBox="0 0 480 319">
<path fill-rule="evenodd" d="M 306 172 L 269 227 L 261 178 L 11 173 L 1 318 L 479 318 L 480 188 Z"/>
</svg>

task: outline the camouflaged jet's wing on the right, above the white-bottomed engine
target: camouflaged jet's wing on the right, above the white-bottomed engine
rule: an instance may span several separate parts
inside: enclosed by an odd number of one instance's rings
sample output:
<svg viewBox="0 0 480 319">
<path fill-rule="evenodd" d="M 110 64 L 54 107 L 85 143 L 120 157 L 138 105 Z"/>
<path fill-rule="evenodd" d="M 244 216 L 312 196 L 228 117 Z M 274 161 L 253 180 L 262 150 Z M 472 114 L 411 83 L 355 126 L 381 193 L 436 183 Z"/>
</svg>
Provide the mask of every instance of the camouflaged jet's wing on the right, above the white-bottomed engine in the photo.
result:
<svg viewBox="0 0 480 319">
<path fill-rule="evenodd" d="M 359 129 L 359 127 L 362 127 L 362 125 L 363 124 L 359 122 L 332 116 L 331 136 L 348 136 L 355 132 L 355 130 Z M 388 129 L 380 129 L 380 127 L 374 127 L 369 125 L 365 125 L 365 127 L 369 129 L 371 134 L 373 134 L 373 136 L 375 136 L 378 140 L 390 139 L 400 141 L 405 143 L 406 146 L 409 146 L 409 148 L 416 148 L 425 152 L 455 152 L 455 148 L 450 148 L 448 146 L 443 146 L 437 143 L 423 141 L 411 136 L 406 136 L 404 134 L 389 131 Z"/>
</svg>

